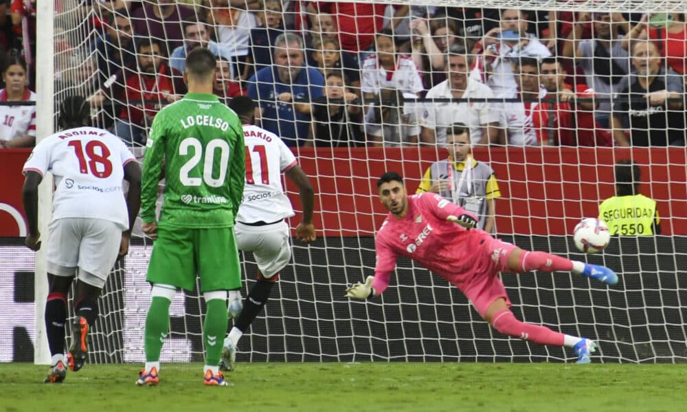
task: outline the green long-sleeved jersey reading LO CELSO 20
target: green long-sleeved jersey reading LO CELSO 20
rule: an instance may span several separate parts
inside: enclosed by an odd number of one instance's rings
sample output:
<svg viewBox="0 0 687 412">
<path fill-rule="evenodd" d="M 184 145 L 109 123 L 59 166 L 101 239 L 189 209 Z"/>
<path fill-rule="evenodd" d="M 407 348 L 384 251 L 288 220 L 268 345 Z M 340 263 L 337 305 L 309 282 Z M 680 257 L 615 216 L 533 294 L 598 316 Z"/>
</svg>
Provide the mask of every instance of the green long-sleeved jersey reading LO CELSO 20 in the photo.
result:
<svg viewBox="0 0 687 412">
<path fill-rule="evenodd" d="M 143 162 L 141 217 L 159 227 L 232 227 L 243 196 L 245 150 L 238 116 L 215 95 L 188 93 L 155 116 Z"/>
</svg>

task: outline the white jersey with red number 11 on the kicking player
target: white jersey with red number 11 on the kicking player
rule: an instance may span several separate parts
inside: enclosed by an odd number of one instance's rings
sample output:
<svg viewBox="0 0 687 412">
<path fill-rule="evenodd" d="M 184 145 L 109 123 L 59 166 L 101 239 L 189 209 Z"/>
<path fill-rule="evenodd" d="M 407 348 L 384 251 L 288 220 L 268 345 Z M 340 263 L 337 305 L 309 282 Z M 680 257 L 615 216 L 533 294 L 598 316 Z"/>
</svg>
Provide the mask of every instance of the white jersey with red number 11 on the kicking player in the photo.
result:
<svg viewBox="0 0 687 412">
<path fill-rule="evenodd" d="M 244 124 L 246 185 L 236 220 L 244 223 L 275 222 L 293 216 L 291 201 L 282 187 L 282 173 L 297 164 L 296 158 L 274 133 Z"/>
</svg>

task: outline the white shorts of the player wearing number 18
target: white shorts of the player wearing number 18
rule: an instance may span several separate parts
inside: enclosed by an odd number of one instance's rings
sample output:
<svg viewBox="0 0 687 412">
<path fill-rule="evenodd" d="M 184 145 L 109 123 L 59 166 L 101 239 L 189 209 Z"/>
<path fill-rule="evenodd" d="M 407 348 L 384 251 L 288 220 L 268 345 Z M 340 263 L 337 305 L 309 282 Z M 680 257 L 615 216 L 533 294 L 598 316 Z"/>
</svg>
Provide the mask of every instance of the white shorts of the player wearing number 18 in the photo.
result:
<svg viewBox="0 0 687 412">
<path fill-rule="evenodd" d="M 47 272 L 74 276 L 96 288 L 105 285 L 122 243 L 122 228 L 95 218 L 61 218 L 50 222 Z"/>
</svg>

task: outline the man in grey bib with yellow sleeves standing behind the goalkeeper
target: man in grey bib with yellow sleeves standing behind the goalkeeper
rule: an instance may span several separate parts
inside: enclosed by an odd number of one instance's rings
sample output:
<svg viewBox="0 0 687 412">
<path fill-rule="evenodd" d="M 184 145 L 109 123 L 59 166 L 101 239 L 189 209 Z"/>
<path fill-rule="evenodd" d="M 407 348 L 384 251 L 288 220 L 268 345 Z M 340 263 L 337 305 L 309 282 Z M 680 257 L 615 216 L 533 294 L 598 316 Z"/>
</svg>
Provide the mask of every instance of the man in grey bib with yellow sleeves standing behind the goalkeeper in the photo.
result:
<svg viewBox="0 0 687 412">
<path fill-rule="evenodd" d="M 458 117 L 457 117 L 458 118 Z M 487 163 L 471 154 L 470 128 L 452 124 L 447 131 L 449 157 L 432 163 L 417 193 L 433 192 L 477 216 L 477 228 L 494 232 L 496 198 L 501 197 L 499 183 Z"/>
</svg>

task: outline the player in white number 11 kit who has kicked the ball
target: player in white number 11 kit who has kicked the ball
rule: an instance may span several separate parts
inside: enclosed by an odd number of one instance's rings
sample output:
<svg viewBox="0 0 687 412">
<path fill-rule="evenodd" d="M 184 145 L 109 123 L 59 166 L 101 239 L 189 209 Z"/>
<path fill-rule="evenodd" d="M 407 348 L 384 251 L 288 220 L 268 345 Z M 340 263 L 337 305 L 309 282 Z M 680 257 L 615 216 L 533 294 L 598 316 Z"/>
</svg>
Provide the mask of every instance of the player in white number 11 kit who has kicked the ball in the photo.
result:
<svg viewBox="0 0 687 412">
<path fill-rule="evenodd" d="M 234 321 L 234 328 L 225 339 L 220 367 L 232 371 L 238 340 L 267 303 L 280 271 L 291 260 L 289 225 L 284 218 L 289 218 L 294 213 L 289 198 L 284 194 L 282 173 L 298 187 L 303 216 L 295 229 L 295 235 L 305 243 L 315 241 L 315 195 L 308 176 L 282 139 L 254 126 L 253 100 L 237 96 L 229 102 L 229 107 L 243 122 L 246 146 L 246 185 L 234 226 L 236 244 L 240 251 L 253 252 L 258 264 L 258 282 L 251 288 L 243 310 L 240 300 L 229 302 L 228 306 L 229 317 L 238 319 Z"/>
</svg>

